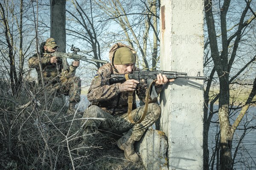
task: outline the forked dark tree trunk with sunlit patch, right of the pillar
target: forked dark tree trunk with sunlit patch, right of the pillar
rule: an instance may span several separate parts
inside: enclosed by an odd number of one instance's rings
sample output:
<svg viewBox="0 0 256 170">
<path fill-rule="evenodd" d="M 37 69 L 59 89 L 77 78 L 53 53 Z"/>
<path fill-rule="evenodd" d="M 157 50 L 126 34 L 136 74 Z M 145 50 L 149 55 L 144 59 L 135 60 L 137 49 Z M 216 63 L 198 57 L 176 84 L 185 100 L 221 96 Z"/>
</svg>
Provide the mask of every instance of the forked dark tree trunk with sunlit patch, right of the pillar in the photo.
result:
<svg viewBox="0 0 256 170">
<path fill-rule="evenodd" d="M 229 72 L 228 72 L 228 43 L 227 43 L 227 29 L 226 29 L 226 12 L 230 1 L 224 2 L 223 11 L 221 11 L 221 34 L 222 34 L 222 48 L 221 56 L 218 54 L 218 43 L 215 32 L 214 18 L 212 14 L 212 1 L 205 1 L 207 29 L 210 40 L 210 48 L 212 59 L 218 73 L 220 81 L 219 93 L 219 122 L 220 122 L 220 169 L 231 170 L 232 167 L 232 138 L 233 133 L 230 130 L 229 121 Z"/>
</svg>

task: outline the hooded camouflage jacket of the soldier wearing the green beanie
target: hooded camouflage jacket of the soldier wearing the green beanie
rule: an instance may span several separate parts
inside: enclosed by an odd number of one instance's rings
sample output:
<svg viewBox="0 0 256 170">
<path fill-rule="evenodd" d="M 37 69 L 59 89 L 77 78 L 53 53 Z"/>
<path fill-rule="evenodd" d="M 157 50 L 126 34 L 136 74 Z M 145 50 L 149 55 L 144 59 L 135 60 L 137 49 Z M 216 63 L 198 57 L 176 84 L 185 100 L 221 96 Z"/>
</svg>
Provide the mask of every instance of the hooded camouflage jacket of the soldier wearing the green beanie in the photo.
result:
<svg viewBox="0 0 256 170">
<path fill-rule="evenodd" d="M 118 49 L 119 46 L 125 46 L 124 44 L 121 44 L 121 43 L 117 43 L 117 46 L 115 45 L 114 47 L 112 46 L 112 49 L 110 52 L 111 63 L 112 63 L 113 54 L 116 51 L 116 49 Z M 135 55 L 135 52 L 134 52 L 134 55 Z M 93 78 L 93 81 L 91 83 L 90 89 L 87 94 L 87 98 L 92 103 L 92 105 L 97 105 L 102 109 L 104 109 L 105 111 L 109 112 L 110 114 L 120 115 L 120 114 L 127 113 L 128 91 L 120 92 L 119 84 L 123 82 L 120 82 L 117 84 L 109 84 L 110 75 L 118 74 L 118 72 L 116 72 L 116 70 L 114 69 L 111 63 L 107 63 L 99 68 L 98 72 Z M 139 70 L 139 69 L 134 66 L 134 70 Z M 162 87 L 163 87 L 162 85 L 157 87 L 152 86 L 152 88 L 156 89 L 157 95 L 160 93 Z M 133 94 L 133 109 L 137 108 L 135 92 L 138 98 L 145 103 L 146 91 L 147 91 L 147 84 L 145 83 L 137 84 L 137 89 L 136 91 L 134 91 L 134 94 Z M 157 101 L 157 97 L 155 98 L 150 97 L 149 103 L 153 103 L 156 101 Z"/>
</svg>

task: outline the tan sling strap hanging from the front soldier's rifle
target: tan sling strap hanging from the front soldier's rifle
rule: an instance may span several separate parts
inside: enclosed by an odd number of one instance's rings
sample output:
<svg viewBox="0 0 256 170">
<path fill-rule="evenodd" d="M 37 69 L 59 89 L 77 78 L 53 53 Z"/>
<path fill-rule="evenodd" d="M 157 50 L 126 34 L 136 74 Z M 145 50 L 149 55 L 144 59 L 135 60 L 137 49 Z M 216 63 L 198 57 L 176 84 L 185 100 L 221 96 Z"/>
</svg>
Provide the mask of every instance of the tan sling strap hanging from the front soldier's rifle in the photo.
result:
<svg viewBox="0 0 256 170">
<path fill-rule="evenodd" d="M 126 79 L 126 80 L 129 80 L 128 74 L 125 74 L 125 79 Z M 137 121 L 137 122 L 134 122 L 133 118 L 131 117 L 131 110 L 132 110 L 132 103 L 133 103 L 133 91 L 129 91 L 129 92 L 128 92 L 128 112 L 127 112 L 127 114 L 128 114 L 129 121 L 131 121 L 131 123 L 133 123 L 133 124 L 139 124 L 139 123 L 141 123 L 141 122 L 144 120 L 144 118 L 146 117 L 147 112 L 148 112 L 149 93 L 150 93 L 151 86 L 152 86 L 152 84 L 153 84 L 155 81 L 157 81 L 157 80 L 152 81 L 151 84 L 149 85 L 148 89 L 147 89 L 144 112 L 143 112 L 143 115 L 141 116 L 140 120 Z"/>
</svg>

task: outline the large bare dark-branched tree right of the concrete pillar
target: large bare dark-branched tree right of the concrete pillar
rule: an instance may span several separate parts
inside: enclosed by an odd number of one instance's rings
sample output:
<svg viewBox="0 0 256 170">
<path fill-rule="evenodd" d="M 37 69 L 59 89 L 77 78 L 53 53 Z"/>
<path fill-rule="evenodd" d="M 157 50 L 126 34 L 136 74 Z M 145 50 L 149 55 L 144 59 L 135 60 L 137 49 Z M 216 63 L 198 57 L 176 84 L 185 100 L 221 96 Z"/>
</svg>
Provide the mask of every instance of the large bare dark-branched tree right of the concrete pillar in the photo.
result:
<svg viewBox="0 0 256 170">
<path fill-rule="evenodd" d="M 239 2 L 240 3 L 240 2 Z M 232 3 L 231 3 L 232 4 Z M 243 36 L 245 36 L 251 28 L 249 27 L 251 23 L 255 22 L 255 12 L 250 10 L 251 0 L 245 1 L 243 3 L 243 11 L 241 14 L 236 13 L 235 16 L 239 16 L 239 22 L 231 28 L 232 32 L 229 32 L 227 25 L 227 17 L 232 16 L 229 15 L 230 8 L 230 0 L 224 0 L 223 3 L 219 2 L 219 12 L 214 13 L 213 4 L 211 0 L 205 1 L 205 15 L 206 15 L 206 23 L 207 23 L 207 31 L 209 42 L 206 42 L 206 46 L 209 45 L 210 57 L 207 58 L 207 63 L 211 63 L 212 60 L 214 66 L 210 70 L 210 80 L 207 82 L 207 87 L 204 93 L 205 97 L 205 108 L 204 108 L 204 169 L 208 169 L 208 158 L 209 151 L 207 149 L 208 146 L 208 132 L 210 121 L 212 118 L 213 112 L 213 104 L 218 100 L 218 118 L 220 124 L 220 153 L 219 153 L 219 169 L 231 170 L 233 169 L 233 158 L 232 158 L 232 141 L 233 135 L 244 117 L 248 107 L 253 103 L 253 98 L 256 94 L 256 75 L 251 74 L 255 79 L 253 81 L 253 87 L 251 89 L 250 95 L 248 95 L 247 100 L 244 104 L 242 104 L 242 109 L 239 115 L 236 117 L 233 124 L 230 124 L 230 84 L 237 82 L 238 77 L 244 75 L 246 69 L 252 66 L 252 63 L 255 61 L 256 55 L 249 55 L 248 61 L 246 61 L 243 65 L 240 65 L 239 69 L 234 61 L 239 57 L 239 47 L 241 44 L 246 46 L 243 41 Z M 219 16 L 219 18 L 218 18 Z M 233 15 L 234 16 L 234 15 Z M 215 20 L 219 20 L 220 26 L 215 23 Z M 216 29 L 220 28 L 221 34 L 218 35 Z M 240 47 L 244 48 L 244 47 Z M 221 49 L 221 50 L 220 50 Z M 250 49 L 255 50 L 255 49 Z M 254 51 L 255 52 L 255 51 Z M 209 91 L 210 86 L 214 83 L 215 72 L 218 75 L 217 81 L 219 82 L 219 92 L 212 98 L 210 102 L 210 113 L 208 113 L 208 104 L 209 104 Z M 232 74 L 231 74 L 232 72 Z M 233 74 L 233 72 L 236 72 Z"/>
</svg>

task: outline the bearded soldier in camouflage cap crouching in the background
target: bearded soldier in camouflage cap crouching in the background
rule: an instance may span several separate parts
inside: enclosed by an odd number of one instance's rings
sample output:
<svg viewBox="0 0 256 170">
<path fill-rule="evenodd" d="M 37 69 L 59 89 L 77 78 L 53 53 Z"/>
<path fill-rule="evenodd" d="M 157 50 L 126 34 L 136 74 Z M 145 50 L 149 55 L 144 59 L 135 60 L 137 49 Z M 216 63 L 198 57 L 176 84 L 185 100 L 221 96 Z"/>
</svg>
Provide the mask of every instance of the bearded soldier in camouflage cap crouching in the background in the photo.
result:
<svg viewBox="0 0 256 170">
<path fill-rule="evenodd" d="M 56 90 L 58 94 L 69 96 L 67 114 L 75 114 L 75 105 L 80 101 L 81 80 L 75 76 L 79 61 L 73 61 L 69 66 L 66 58 L 56 58 L 50 55 L 58 50 L 58 45 L 53 38 L 48 38 L 41 43 L 41 66 L 44 86 L 47 92 Z M 47 53 L 47 54 L 46 54 Z M 37 54 L 29 58 L 29 67 L 35 68 L 38 73 L 38 83 L 41 84 L 41 73 Z"/>
</svg>

